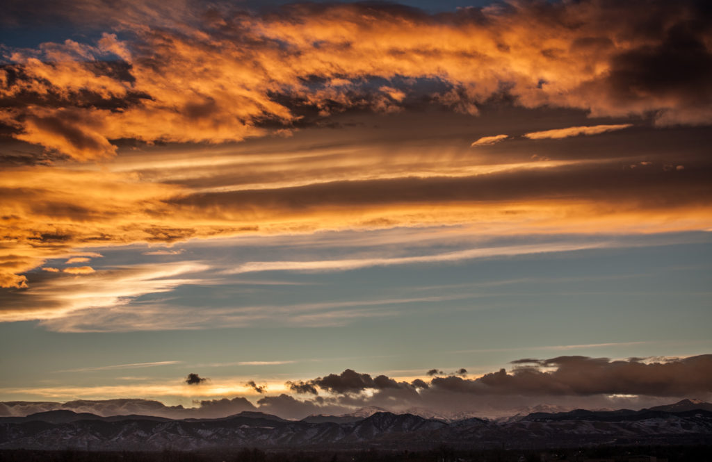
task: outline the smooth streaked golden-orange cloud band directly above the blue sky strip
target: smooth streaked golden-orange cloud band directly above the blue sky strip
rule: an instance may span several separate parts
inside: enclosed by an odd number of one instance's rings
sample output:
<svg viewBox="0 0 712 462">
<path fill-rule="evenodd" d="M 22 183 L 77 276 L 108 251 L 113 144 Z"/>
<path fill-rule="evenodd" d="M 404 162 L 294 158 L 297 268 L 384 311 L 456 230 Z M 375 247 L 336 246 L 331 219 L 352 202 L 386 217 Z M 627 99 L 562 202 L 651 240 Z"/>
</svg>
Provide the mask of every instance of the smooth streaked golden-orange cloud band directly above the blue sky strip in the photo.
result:
<svg viewBox="0 0 712 462">
<path fill-rule="evenodd" d="M 278 174 L 276 162 L 237 162 L 248 183 L 216 188 L 203 185 L 219 169 L 229 175 L 232 170 L 199 165 L 188 169 L 203 178 L 195 189 L 150 182 L 135 172 L 5 169 L 0 283 L 26 287 L 23 273 L 49 258 L 98 256 L 75 248 L 189 238 L 446 225 L 472 226 L 481 235 L 712 227 L 703 170 L 648 165 L 612 176 L 612 168 L 620 171 L 615 159 L 487 165 L 437 152 L 371 158 L 356 153 L 315 164 L 310 157 L 294 157 Z M 184 174 L 167 172 L 166 180 Z M 182 181 L 190 184 L 192 178 Z M 600 188 L 602 181 L 607 189 Z"/>
</svg>

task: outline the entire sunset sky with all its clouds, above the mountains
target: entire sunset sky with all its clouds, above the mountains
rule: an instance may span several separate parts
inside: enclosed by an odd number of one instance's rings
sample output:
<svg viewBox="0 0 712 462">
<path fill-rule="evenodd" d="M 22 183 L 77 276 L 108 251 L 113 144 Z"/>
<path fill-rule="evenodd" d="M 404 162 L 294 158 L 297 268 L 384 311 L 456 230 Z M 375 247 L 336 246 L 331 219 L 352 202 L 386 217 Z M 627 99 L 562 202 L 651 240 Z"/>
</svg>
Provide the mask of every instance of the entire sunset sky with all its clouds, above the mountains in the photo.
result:
<svg viewBox="0 0 712 462">
<path fill-rule="evenodd" d="M 9 1 L 0 415 L 712 400 L 702 1 Z"/>
</svg>

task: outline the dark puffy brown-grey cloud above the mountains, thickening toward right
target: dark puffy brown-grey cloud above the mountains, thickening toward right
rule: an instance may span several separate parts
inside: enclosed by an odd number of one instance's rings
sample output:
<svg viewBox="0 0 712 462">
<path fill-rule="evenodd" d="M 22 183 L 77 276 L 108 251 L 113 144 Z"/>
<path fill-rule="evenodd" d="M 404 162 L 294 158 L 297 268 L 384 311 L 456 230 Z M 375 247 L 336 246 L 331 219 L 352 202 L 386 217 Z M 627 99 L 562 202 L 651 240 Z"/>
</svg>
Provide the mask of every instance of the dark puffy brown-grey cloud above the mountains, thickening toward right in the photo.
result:
<svg viewBox="0 0 712 462">
<path fill-rule="evenodd" d="M 712 355 L 647 361 L 577 356 L 527 358 L 514 361 L 515 367 L 510 372 L 501 369 L 467 379 L 464 369 L 448 375 L 433 369 L 431 375 L 439 377 L 432 377 L 429 382 L 415 379 L 411 383 L 386 376 L 372 379 L 369 374 L 346 369 L 341 374 L 302 382 L 318 384 L 328 392 L 325 397 L 299 401 L 283 395 L 276 402 L 288 403 L 290 412 L 301 411 L 304 415 L 321 412 L 323 406 L 346 409 L 379 406 L 390 411 L 420 408 L 441 411 L 443 415 L 466 410 L 489 416 L 542 403 L 567 409 L 643 407 L 682 397 L 712 397 L 711 362 Z M 377 382 L 382 384 L 379 386 Z"/>
</svg>

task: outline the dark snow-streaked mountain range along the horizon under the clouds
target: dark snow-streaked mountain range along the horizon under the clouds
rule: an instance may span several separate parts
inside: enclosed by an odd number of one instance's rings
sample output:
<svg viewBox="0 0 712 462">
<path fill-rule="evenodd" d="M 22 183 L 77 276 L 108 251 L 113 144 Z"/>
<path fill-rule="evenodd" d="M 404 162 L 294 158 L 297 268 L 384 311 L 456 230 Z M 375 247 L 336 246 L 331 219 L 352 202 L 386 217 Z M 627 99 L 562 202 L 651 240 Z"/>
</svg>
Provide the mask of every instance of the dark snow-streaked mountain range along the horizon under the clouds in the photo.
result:
<svg viewBox="0 0 712 462">
<path fill-rule="evenodd" d="M 288 421 L 261 413 L 223 419 L 101 417 L 54 411 L 0 422 L 0 449 L 192 451 L 211 448 L 427 450 L 551 448 L 600 444 L 712 444 L 712 411 L 537 413 L 518 421 L 446 422 L 379 412 L 351 422 Z M 73 413 L 72 413 L 73 414 Z"/>
</svg>

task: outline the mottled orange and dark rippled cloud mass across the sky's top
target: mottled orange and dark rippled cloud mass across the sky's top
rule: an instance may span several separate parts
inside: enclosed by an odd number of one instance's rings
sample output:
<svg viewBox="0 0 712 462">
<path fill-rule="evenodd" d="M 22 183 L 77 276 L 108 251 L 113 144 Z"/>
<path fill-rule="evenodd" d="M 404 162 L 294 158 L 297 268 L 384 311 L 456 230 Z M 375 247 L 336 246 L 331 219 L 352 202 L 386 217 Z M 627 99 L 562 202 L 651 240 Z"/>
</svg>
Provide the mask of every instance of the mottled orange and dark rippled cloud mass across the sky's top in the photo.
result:
<svg viewBox="0 0 712 462">
<path fill-rule="evenodd" d="M 699 5 L 523 1 L 437 15 L 372 4 L 265 14 L 183 5 L 162 18 L 157 2 L 117 12 L 97 3 L 71 19 L 102 16 L 134 38 L 9 51 L 0 118 L 20 140 L 86 160 L 115 154 L 121 138 L 226 142 L 292 127 L 310 111 L 392 112 L 408 100 L 400 78 L 438 80 L 446 90 L 431 99 L 470 113 L 504 92 L 525 107 L 707 124 L 711 19 Z"/>
</svg>

